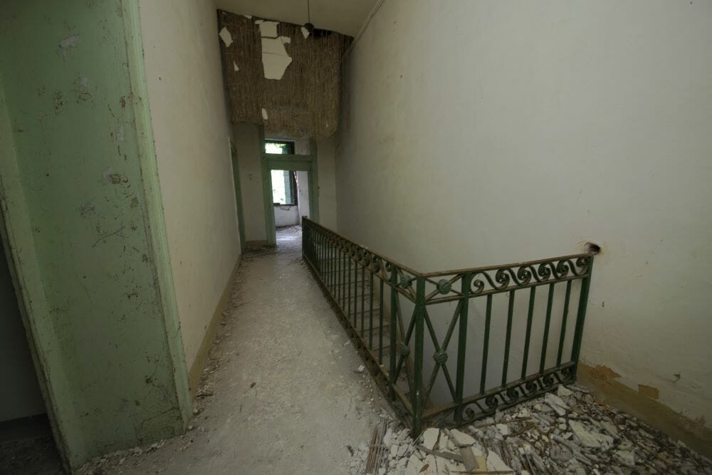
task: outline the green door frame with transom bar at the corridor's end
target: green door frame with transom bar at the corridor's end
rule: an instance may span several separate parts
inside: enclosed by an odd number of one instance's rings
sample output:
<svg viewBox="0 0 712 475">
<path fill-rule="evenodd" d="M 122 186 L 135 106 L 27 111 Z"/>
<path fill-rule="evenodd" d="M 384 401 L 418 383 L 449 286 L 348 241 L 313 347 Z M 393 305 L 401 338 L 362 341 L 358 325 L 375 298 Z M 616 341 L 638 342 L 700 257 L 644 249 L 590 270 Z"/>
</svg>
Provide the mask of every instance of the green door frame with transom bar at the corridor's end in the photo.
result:
<svg viewBox="0 0 712 475">
<path fill-rule="evenodd" d="M 260 162 L 262 165 L 262 190 L 265 204 L 265 228 L 267 245 L 277 245 L 277 229 L 274 224 L 274 207 L 272 198 L 272 170 L 290 170 L 307 172 L 309 180 L 309 214 L 310 219 L 319 222 L 319 174 L 316 142 L 309 141 L 309 155 L 275 154 L 265 152 L 265 135 L 260 127 Z"/>
</svg>

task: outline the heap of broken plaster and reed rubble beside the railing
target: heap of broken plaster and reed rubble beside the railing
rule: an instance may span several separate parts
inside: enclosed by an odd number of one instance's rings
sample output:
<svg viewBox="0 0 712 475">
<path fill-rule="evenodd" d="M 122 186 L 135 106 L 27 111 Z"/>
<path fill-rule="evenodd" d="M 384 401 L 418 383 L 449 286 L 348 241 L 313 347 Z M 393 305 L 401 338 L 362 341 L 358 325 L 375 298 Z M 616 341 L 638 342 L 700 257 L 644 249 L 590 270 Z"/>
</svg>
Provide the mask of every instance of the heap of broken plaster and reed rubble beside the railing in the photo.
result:
<svg viewBox="0 0 712 475">
<path fill-rule="evenodd" d="M 468 427 L 374 429 L 351 474 L 712 474 L 712 462 L 579 385 L 560 386 Z"/>
</svg>

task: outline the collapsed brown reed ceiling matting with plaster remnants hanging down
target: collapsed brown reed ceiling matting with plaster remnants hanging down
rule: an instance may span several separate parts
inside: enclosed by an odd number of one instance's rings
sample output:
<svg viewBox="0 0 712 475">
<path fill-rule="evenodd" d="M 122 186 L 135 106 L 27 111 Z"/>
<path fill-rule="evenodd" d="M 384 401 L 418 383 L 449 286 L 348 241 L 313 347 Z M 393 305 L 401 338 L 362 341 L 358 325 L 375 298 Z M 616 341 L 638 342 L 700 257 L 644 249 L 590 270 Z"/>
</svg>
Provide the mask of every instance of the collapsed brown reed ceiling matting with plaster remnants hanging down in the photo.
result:
<svg viewBox="0 0 712 475">
<path fill-rule="evenodd" d="M 219 37 L 233 122 L 272 137 L 333 135 L 350 36 L 219 11 Z"/>
</svg>

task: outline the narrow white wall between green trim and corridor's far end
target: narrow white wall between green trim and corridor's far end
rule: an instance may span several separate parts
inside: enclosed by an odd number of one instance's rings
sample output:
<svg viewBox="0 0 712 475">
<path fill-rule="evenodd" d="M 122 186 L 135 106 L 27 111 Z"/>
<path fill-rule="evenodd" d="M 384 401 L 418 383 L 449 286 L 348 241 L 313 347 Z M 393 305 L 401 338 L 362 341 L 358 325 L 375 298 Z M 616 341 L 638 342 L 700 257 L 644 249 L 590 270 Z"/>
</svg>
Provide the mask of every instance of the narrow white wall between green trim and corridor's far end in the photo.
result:
<svg viewBox="0 0 712 475">
<path fill-rule="evenodd" d="M 142 0 L 153 133 L 190 367 L 239 258 L 213 1 Z"/>
</svg>

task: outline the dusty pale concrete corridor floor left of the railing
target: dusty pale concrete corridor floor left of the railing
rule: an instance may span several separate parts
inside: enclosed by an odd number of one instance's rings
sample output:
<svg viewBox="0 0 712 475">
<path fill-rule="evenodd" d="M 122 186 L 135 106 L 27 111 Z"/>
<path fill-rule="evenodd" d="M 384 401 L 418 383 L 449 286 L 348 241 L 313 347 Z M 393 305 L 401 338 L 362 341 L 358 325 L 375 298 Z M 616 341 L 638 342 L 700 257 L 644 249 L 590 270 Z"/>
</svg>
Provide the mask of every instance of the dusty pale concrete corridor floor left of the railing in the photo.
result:
<svg viewBox="0 0 712 475">
<path fill-rule="evenodd" d="M 84 473 L 335 474 L 387 409 L 301 259 L 298 227 L 244 254 L 183 437 Z"/>
</svg>

